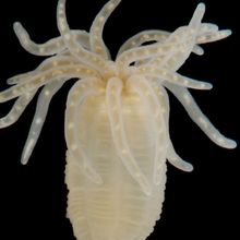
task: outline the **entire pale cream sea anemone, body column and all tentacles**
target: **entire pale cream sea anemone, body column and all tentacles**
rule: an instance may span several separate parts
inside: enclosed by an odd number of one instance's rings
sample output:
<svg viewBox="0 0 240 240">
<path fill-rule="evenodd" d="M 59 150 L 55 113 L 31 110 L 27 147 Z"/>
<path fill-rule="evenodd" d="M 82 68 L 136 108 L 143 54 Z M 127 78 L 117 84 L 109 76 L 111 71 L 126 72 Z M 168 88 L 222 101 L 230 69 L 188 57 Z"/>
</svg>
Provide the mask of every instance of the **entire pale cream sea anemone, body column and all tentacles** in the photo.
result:
<svg viewBox="0 0 240 240">
<path fill-rule="evenodd" d="M 166 160 L 184 171 L 193 169 L 171 143 L 166 88 L 213 142 L 226 148 L 237 145 L 211 123 L 188 91 L 211 89 L 212 84 L 178 72 L 191 53 L 204 53 L 201 44 L 226 38 L 231 31 L 202 23 L 205 5 L 200 3 L 188 25 L 173 33 L 137 33 L 113 60 L 103 29 L 119 3 L 109 0 L 87 33 L 70 29 L 65 0 L 59 0 L 60 36 L 44 44 L 35 44 L 16 22 L 13 27 L 23 48 L 49 58 L 34 71 L 10 77 L 11 86 L 0 93 L 0 103 L 16 98 L 10 112 L 0 118 L 0 128 L 5 128 L 43 86 L 22 154 L 21 161 L 26 164 L 51 98 L 65 81 L 79 79 L 68 96 L 64 125 L 68 217 L 79 240 L 144 240 L 161 212 Z"/>
</svg>

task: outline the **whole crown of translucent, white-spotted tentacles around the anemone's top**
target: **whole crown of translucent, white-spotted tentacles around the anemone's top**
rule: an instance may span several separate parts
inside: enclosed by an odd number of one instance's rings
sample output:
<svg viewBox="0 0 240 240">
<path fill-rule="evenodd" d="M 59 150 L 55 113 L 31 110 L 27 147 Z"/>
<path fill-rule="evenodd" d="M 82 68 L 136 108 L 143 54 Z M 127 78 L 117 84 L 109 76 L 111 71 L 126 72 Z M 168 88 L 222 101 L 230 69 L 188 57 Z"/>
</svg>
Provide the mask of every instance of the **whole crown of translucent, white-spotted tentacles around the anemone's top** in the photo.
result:
<svg viewBox="0 0 240 240">
<path fill-rule="evenodd" d="M 225 137 L 208 121 L 187 89 L 188 87 L 211 89 L 212 84 L 192 80 L 178 73 L 178 70 L 189 58 L 191 52 L 196 55 L 204 53 L 202 47 L 199 45 L 226 38 L 231 34 L 231 31 L 219 31 L 215 24 L 202 23 L 205 5 L 200 3 L 189 25 L 179 27 L 173 33 L 156 29 L 140 32 L 121 46 L 117 59 L 113 62 L 110 60 L 110 53 L 105 46 L 103 31 L 107 19 L 120 1 L 121 0 L 109 0 L 99 11 L 92 24 L 89 33 L 87 33 L 84 31 L 70 29 L 65 16 L 65 0 L 59 0 L 57 23 L 60 36 L 44 44 L 34 43 L 22 24 L 19 22 L 14 23 L 14 32 L 25 50 L 36 56 L 50 56 L 50 58 L 43 61 L 34 71 L 17 74 L 8 80 L 8 84 L 12 86 L 0 92 L 0 103 L 16 97 L 19 98 L 10 112 L 5 117 L 0 118 L 0 128 L 5 128 L 14 123 L 34 97 L 37 89 L 44 86 L 38 97 L 37 110 L 22 155 L 22 163 L 26 164 L 40 134 L 50 100 L 62 84 L 72 77 L 81 80 L 70 92 L 73 96 L 68 98 L 70 109 L 72 107 L 70 106 L 70 101 L 74 103 L 75 108 L 81 109 L 83 101 L 88 95 L 98 93 L 96 85 L 94 87 L 92 84 L 97 81 L 99 88 L 106 88 L 108 116 L 118 154 L 142 190 L 146 194 L 149 194 L 149 182 L 139 168 L 125 137 L 121 116 L 122 87 L 127 84 L 133 88 L 133 82 L 136 83 L 134 91 L 141 96 L 143 104 L 147 106 L 146 108 L 149 108 L 146 110 L 152 112 L 149 115 L 158 116 L 160 108 L 166 109 L 166 112 L 160 113 L 167 129 L 166 139 L 168 147 L 166 147 L 166 157 L 176 167 L 185 171 L 192 170 L 192 166 L 178 156 L 171 143 L 168 132 L 169 103 L 165 88 L 173 93 L 191 119 L 213 142 L 227 148 L 236 147 L 235 141 Z M 136 80 L 139 80 L 139 83 Z M 160 97 L 160 95 L 158 96 L 152 88 L 154 82 L 159 85 L 158 92 L 163 97 Z M 88 87 L 87 91 L 84 92 L 81 88 L 83 86 L 91 86 L 91 84 L 93 89 Z M 145 95 L 144 88 L 148 89 L 151 97 Z M 112 92 L 115 95 L 111 94 Z M 76 93 L 82 93 L 77 99 L 75 98 Z M 74 121 L 80 118 L 80 112 L 77 113 L 77 111 L 75 111 L 75 113 L 69 111 L 69 115 Z M 71 153 L 74 158 L 82 159 L 79 165 L 80 168 L 83 168 L 87 172 L 86 176 L 95 183 L 100 183 L 101 179 L 93 166 L 89 165 L 87 155 L 76 135 L 77 131 L 74 132 L 73 129 L 71 129 L 72 122 L 70 121 L 70 117 L 67 117 L 69 125 L 65 125 L 65 129 L 69 130 L 68 134 L 72 136 L 69 137 L 71 140 L 68 140 Z M 163 121 L 163 119 L 158 120 Z M 117 133 L 115 128 L 117 122 L 119 124 L 117 129 L 120 131 L 120 134 Z M 152 123 L 155 125 L 154 128 L 159 128 L 157 118 L 156 122 L 153 121 Z M 155 141 L 156 146 L 159 145 L 160 141 L 157 136 Z M 77 148 L 74 147 L 76 144 L 79 145 Z M 155 164 L 159 166 L 157 160 L 159 159 L 157 159 L 156 149 Z M 157 182 L 156 175 L 155 172 L 155 183 Z"/>
</svg>

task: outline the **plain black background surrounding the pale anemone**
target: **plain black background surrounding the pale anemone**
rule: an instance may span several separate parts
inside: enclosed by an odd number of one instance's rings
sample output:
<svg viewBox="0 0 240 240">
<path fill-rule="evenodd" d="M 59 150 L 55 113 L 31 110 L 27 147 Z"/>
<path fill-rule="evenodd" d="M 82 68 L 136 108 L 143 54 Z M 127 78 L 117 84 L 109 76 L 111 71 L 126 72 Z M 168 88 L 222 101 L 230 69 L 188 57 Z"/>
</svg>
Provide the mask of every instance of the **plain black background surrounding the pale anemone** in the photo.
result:
<svg viewBox="0 0 240 240">
<path fill-rule="evenodd" d="M 69 0 L 68 20 L 72 28 L 88 31 L 106 0 Z M 229 137 L 239 142 L 239 12 L 236 0 L 206 0 L 204 22 L 231 28 L 230 38 L 204 46 L 203 57 L 191 56 L 180 72 L 211 81 L 211 92 L 192 91 L 202 110 Z M 116 55 L 133 34 L 151 28 L 167 29 L 185 25 L 196 0 L 122 0 L 106 24 L 104 37 Z M 5 79 L 37 67 L 44 58 L 27 53 L 12 31 L 21 21 L 32 38 L 43 43 L 58 36 L 57 0 L 2 1 L 0 9 L 0 88 Z M 65 218 L 64 108 L 71 81 L 53 98 L 39 141 L 27 166 L 20 156 L 34 116 L 36 98 L 12 127 L 0 131 L 0 239 L 73 240 Z M 1 104 L 5 115 L 13 101 Z M 212 143 L 189 119 L 170 95 L 170 134 L 177 152 L 194 165 L 191 173 L 168 165 L 168 182 L 156 239 L 239 239 L 239 148 L 228 151 Z M 4 231 L 7 235 L 4 235 Z"/>
</svg>

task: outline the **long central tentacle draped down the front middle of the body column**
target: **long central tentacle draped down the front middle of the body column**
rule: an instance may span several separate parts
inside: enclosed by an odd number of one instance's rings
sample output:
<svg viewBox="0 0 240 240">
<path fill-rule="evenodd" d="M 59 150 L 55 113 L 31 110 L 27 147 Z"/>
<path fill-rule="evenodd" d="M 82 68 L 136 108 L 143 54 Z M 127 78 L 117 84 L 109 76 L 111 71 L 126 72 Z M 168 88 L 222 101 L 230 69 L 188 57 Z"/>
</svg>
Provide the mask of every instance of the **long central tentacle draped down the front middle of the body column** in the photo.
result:
<svg viewBox="0 0 240 240">
<path fill-rule="evenodd" d="M 118 155 L 121 158 L 122 164 L 128 169 L 129 173 L 140 184 L 143 192 L 146 195 L 149 195 L 149 182 L 140 169 L 127 141 L 121 111 L 121 92 L 122 82 L 117 77 L 110 79 L 106 88 L 106 100 L 113 143 Z"/>
</svg>

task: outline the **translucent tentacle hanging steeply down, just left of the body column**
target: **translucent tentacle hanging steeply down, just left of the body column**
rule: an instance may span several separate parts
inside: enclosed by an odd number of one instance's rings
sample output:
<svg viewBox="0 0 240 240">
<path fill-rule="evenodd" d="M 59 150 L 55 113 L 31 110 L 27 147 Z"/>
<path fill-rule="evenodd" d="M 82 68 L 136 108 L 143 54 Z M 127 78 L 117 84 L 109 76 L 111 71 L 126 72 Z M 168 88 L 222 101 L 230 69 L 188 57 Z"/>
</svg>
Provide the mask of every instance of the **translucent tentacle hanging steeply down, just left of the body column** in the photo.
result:
<svg viewBox="0 0 240 240">
<path fill-rule="evenodd" d="M 45 119 L 47 117 L 47 112 L 48 112 L 48 108 L 49 108 L 49 104 L 51 101 L 51 98 L 53 97 L 53 95 L 61 88 L 61 86 L 63 85 L 63 83 L 67 81 L 67 79 L 64 80 L 60 80 L 58 82 L 52 82 L 47 84 L 39 97 L 38 97 L 38 101 L 37 101 L 37 107 L 36 107 L 36 112 L 34 116 L 34 120 L 33 123 L 31 125 L 31 130 L 25 143 L 25 146 L 23 148 L 23 153 L 22 153 L 22 157 L 21 157 L 21 163 L 22 164 L 27 164 L 33 149 L 37 143 L 37 140 L 40 135 L 40 131 L 43 129 Z"/>
</svg>

